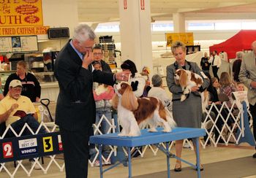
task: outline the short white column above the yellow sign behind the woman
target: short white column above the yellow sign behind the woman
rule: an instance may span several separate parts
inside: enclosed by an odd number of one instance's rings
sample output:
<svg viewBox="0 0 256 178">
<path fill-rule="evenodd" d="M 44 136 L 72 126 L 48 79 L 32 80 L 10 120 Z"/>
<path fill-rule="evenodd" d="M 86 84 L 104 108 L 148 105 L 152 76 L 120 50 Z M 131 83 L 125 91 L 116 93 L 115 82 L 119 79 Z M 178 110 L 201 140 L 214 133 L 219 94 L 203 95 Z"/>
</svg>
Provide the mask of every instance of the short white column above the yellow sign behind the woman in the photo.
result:
<svg viewBox="0 0 256 178">
<path fill-rule="evenodd" d="M 184 14 L 173 13 L 173 28 L 175 33 L 186 32 Z"/>
</svg>

